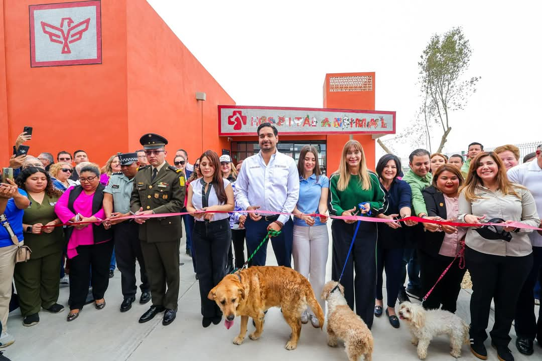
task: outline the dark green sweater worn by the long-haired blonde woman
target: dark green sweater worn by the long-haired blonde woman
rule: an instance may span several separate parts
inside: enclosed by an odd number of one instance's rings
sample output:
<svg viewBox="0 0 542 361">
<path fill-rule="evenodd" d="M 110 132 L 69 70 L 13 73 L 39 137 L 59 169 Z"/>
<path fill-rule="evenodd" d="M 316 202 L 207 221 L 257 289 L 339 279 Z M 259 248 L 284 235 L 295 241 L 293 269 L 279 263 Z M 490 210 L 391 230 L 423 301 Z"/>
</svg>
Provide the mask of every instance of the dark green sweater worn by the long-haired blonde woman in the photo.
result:
<svg viewBox="0 0 542 361">
<path fill-rule="evenodd" d="M 384 191 L 380 188 L 380 182 L 375 173 L 369 172 L 371 187 L 367 190 L 362 189 L 359 182 L 359 175 L 350 175 L 350 182 L 344 191 L 339 191 L 337 183 L 339 174 L 333 174 L 330 178 L 331 207 L 330 213 L 333 215 L 342 215 L 344 211 L 356 208 L 362 202 L 369 202 L 371 205 L 372 216 L 384 211 Z M 358 214 L 359 215 L 359 214 Z"/>
</svg>

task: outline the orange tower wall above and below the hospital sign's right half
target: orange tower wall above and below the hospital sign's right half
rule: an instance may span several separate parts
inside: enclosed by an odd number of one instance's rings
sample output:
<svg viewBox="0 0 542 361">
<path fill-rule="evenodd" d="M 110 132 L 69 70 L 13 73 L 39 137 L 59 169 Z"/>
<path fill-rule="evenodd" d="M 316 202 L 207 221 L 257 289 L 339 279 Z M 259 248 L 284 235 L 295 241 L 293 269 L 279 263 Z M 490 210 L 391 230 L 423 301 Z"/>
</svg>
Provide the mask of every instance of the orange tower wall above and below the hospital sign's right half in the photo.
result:
<svg viewBox="0 0 542 361">
<path fill-rule="evenodd" d="M 373 79 L 372 91 L 329 91 L 329 79 L 332 76 L 359 76 L 371 75 Z M 375 110 L 375 73 L 340 73 L 326 74 L 324 81 L 324 108 Z M 371 135 L 355 134 L 353 138 L 359 141 L 365 152 L 367 167 L 375 169 L 375 141 Z M 327 136 L 327 174 L 335 172 L 339 167 L 341 153 L 345 143 L 349 141 L 348 135 Z"/>
</svg>

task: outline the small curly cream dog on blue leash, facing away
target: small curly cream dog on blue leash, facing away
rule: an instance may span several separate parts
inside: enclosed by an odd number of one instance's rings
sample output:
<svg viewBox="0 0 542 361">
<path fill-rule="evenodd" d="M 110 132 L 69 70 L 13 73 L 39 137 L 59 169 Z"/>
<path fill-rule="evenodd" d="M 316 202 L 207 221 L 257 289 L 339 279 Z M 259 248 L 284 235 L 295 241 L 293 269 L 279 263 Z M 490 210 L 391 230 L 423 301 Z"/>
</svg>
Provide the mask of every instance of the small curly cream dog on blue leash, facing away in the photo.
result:
<svg viewBox="0 0 542 361">
<path fill-rule="evenodd" d="M 364 356 L 371 361 L 373 338 L 369 327 L 354 313 L 344 299 L 344 287 L 329 281 L 322 290 L 322 299 L 327 301 L 327 344 L 337 346 L 337 338 L 344 341 L 346 355 L 350 361 Z"/>
</svg>

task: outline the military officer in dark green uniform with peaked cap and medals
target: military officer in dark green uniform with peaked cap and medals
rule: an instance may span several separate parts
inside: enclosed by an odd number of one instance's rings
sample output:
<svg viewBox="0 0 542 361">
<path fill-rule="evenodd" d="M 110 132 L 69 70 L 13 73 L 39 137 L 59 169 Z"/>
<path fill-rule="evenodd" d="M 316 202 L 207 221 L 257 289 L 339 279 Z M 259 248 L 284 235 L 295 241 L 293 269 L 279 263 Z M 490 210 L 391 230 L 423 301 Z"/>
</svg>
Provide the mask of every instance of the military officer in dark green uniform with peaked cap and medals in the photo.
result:
<svg viewBox="0 0 542 361">
<path fill-rule="evenodd" d="M 178 213 L 184 206 L 184 173 L 166 160 L 167 140 L 145 134 L 139 140 L 150 165 L 139 168 L 134 178 L 130 210 L 137 215 Z M 163 325 L 175 320 L 179 296 L 179 240 L 181 216 L 137 218 L 139 240 L 151 286 L 152 306 L 139 318 L 149 321 L 164 312 Z M 167 290 L 166 290 L 167 286 Z"/>
</svg>

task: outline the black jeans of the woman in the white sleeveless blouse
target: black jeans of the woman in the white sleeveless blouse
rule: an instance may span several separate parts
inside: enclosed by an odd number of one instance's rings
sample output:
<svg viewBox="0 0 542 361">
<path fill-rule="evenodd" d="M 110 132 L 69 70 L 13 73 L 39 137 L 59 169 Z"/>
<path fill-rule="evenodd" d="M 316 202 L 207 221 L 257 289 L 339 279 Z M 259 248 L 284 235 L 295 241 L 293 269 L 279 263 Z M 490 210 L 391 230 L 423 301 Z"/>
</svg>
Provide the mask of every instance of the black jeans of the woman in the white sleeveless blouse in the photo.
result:
<svg viewBox="0 0 542 361">
<path fill-rule="evenodd" d="M 212 287 L 224 278 L 231 245 L 229 219 L 214 222 L 196 221 L 192 232 L 192 247 L 198 255 L 196 274 L 199 280 L 199 296 L 203 317 L 221 316 L 214 300 L 207 298 Z"/>
</svg>

